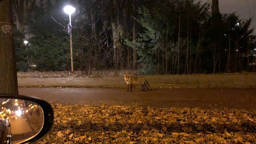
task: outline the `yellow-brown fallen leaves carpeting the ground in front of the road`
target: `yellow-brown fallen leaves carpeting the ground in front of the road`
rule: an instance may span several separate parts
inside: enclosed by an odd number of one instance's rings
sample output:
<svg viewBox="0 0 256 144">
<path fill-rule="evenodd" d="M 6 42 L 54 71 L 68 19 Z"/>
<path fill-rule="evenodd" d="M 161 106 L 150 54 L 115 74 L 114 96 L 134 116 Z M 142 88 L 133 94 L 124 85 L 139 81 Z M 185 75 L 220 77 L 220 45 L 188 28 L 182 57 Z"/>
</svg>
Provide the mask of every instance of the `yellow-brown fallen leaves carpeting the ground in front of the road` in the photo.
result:
<svg viewBox="0 0 256 144">
<path fill-rule="evenodd" d="M 52 104 L 38 144 L 256 143 L 256 110 Z"/>
</svg>

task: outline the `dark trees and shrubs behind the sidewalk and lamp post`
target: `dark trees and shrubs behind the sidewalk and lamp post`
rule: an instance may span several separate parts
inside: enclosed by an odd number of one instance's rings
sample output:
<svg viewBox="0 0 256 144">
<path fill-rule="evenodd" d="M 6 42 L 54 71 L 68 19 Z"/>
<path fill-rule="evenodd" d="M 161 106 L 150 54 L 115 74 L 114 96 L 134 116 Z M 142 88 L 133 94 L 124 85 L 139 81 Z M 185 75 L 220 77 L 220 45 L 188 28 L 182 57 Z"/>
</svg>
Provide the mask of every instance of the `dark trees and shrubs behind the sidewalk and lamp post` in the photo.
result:
<svg viewBox="0 0 256 144">
<path fill-rule="evenodd" d="M 29 1 L 24 30 L 15 34 L 19 71 L 70 70 L 65 0 Z M 251 19 L 211 13 L 194 0 L 76 0 L 73 58 L 81 74 L 128 70 L 139 74 L 255 71 Z M 21 11 L 22 12 L 22 11 Z M 17 14 L 15 14 L 17 19 Z M 23 41 L 27 40 L 27 45 Z"/>
</svg>

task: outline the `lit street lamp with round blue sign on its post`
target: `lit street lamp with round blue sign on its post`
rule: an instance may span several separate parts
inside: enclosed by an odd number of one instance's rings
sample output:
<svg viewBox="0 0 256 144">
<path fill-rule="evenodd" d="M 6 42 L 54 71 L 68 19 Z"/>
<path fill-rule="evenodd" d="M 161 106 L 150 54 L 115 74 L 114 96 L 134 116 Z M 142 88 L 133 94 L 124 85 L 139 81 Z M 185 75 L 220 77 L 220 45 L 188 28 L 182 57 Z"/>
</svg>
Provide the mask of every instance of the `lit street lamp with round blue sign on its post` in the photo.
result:
<svg viewBox="0 0 256 144">
<path fill-rule="evenodd" d="M 74 67 L 73 67 L 73 54 L 72 54 L 72 26 L 71 26 L 71 14 L 74 13 L 76 8 L 72 6 L 65 6 L 64 7 L 64 12 L 69 14 L 69 24 L 67 26 L 68 34 L 70 35 L 70 55 L 71 55 L 71 72 L 74 72 Z"/>
</svg>

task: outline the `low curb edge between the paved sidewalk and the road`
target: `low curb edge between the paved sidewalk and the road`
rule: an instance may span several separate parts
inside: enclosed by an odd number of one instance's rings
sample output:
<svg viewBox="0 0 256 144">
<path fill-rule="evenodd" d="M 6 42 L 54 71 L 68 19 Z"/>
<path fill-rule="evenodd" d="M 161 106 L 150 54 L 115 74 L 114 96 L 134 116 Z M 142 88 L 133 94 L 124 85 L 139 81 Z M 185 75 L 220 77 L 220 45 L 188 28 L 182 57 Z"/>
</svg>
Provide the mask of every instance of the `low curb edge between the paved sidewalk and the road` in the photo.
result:
<svg viewBox="0 0 256 144">
<path fill-rule="evenodd" d="M 134 85 L 134 88 L 141 88 Z M 18 88 L 127 88 L 126 85 L 18 85 Z M 256 88 L 256 85 L 154 85 L 151 88 Z"/>
</svg>

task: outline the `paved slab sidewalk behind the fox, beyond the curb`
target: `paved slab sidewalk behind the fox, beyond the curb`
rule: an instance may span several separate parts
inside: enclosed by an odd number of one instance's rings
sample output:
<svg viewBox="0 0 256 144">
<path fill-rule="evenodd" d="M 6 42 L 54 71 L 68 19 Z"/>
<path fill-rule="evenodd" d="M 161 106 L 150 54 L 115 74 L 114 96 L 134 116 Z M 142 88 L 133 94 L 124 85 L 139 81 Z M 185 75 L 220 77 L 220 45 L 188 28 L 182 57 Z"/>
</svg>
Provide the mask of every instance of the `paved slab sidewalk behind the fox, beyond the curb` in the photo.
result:
<svg viewBox="0 0 256 144">
<path fill-rule="evenodd" d="M 256 88 L 256 75 L 145 76 L 152 88 Z M 19 87 L 126 88 L 123 77 L 18 78 Z M 140 87 L 139 85 L 135 87 Z"/>
</svg>

